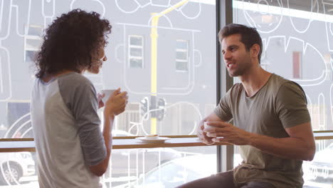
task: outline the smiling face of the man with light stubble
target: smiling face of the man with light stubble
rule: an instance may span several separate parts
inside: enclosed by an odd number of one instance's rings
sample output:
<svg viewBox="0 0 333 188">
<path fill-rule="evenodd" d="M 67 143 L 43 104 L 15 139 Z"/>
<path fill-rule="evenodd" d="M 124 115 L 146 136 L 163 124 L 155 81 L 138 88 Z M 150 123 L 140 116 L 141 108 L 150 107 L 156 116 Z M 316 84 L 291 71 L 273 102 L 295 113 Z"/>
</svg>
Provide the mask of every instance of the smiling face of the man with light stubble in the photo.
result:
<svg viewBox="0 0 333 188">
<path fill-rule="evenodd" d="M 230 76 L 244 75 L 252 66 L 250 52 L 240 42 L 240 34 L 223 38 L 221 43 L 224 63 Z"/>
</svg>

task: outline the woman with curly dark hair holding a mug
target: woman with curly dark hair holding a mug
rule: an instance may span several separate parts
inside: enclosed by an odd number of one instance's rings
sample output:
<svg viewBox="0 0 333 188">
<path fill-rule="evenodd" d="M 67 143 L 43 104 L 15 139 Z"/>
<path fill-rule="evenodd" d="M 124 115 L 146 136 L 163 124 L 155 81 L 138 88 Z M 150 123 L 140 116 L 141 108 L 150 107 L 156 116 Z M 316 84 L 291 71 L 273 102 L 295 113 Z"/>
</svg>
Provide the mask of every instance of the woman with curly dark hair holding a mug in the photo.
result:
<svg viewBox="0 0 333 188">
<path fill-rule="evenodd" d="M 80 9 L 62 14 L 46 29 L 31 98 L 41 188 L 99 187 L 107 169 L 112 125 L 125 110 L 127 93 L 118 88 L 103 104 L 82 74 L 99 73 L 107 60 L 108 33 L 109 21 Z M 104 105 L 101 132 L 97 110 Z"/>
</svg>

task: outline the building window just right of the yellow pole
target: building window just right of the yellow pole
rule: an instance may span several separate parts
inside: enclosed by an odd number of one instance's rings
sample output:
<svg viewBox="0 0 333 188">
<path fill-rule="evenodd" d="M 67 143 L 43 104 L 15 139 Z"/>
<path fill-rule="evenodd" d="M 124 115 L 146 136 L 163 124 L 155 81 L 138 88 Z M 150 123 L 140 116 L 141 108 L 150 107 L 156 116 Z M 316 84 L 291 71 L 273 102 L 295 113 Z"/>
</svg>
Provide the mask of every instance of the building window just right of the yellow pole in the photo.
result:
<svg viewBox="0 0 333 188">
<path fill-rule="evenodd" d="M 189 71 L 189 41 L 176 41 L 176 71 Z"/>
</svg>

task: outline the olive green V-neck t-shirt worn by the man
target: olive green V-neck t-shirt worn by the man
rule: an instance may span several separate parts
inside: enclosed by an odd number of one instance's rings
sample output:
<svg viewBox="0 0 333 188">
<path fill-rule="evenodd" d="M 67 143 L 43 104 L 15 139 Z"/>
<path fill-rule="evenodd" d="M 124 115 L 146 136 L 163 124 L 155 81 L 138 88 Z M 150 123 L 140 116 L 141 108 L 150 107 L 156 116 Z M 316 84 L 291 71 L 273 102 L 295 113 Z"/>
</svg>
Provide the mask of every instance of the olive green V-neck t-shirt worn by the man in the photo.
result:
<svg viewBox="0 0 333 188">
<path fill-rule="evenodd" d="M 305 93 L 297 83 L 272 74 L 255 95 L 248 97 L 236 83 L 221 99 L 214 113 L 221 120 L 248 132 L 269 137 L 289 137 L 285 128 L 310 122 Z M 240 146 L 243 162 L 233 169 L 234 182 L 270 182 L 276 188 L 302 187 L 302 160 L 290 160 Z"/>
</svg>

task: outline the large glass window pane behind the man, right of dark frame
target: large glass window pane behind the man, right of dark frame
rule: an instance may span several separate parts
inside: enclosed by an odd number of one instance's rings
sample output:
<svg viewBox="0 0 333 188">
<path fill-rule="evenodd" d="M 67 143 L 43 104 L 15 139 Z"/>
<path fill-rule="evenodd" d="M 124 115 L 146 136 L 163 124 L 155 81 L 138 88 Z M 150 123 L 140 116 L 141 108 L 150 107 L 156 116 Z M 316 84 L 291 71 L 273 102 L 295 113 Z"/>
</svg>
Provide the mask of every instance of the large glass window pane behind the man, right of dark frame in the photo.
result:
<svg viewBox="0 0 333 188">
<path fill-rule="evenodd" d="M 332 9 L 330 0 L 233 1 L 233 22 L 257 28 L 263 38 L 265 70 L 302 85 L 313 130 L 333 130 Z M 313 162 L 303 165 L 305 186 L 332 186 L 331 143 L 316 141 Z"/>
</svg>

